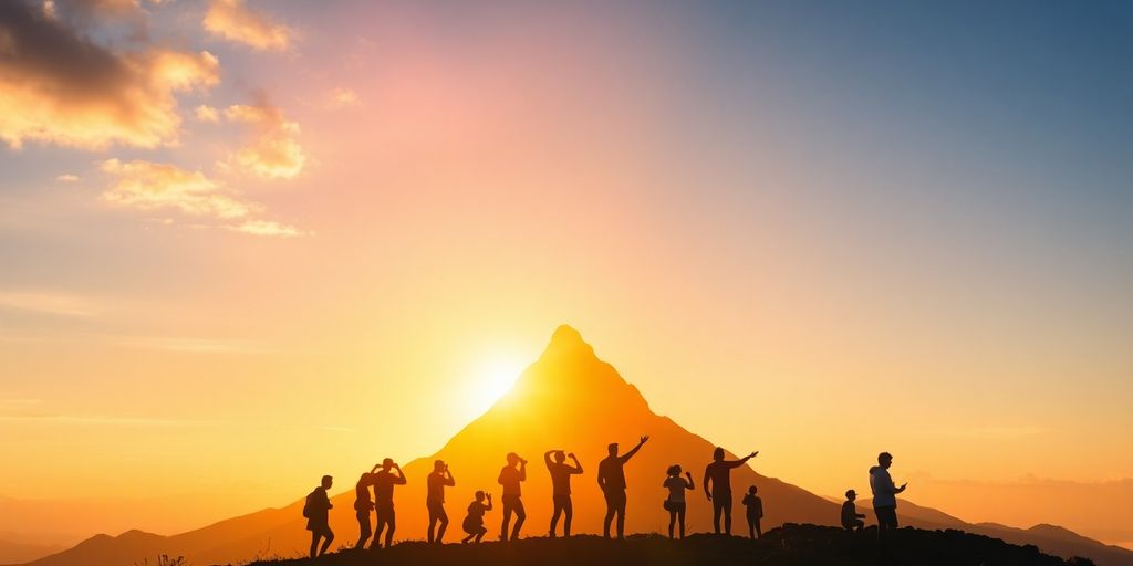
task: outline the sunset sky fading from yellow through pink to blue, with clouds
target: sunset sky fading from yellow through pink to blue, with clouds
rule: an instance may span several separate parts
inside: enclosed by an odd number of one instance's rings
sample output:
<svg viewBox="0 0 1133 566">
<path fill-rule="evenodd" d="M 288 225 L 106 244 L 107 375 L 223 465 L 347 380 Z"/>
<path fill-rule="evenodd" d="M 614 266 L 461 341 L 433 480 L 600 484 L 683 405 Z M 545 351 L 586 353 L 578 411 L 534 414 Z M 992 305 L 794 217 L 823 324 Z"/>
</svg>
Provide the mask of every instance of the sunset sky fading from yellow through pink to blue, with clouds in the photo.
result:
<svg viewBox="0 0 1133 566">
<path fill-rule="evenodd" d="M 887 449 L 919 504 L 1133 546 L 1131 24 L 2 2 L 0 496 L 97 508 L 29 528 L 73 538 L 282 505 L 568 323 L 764 474 Z"/>
</svg>

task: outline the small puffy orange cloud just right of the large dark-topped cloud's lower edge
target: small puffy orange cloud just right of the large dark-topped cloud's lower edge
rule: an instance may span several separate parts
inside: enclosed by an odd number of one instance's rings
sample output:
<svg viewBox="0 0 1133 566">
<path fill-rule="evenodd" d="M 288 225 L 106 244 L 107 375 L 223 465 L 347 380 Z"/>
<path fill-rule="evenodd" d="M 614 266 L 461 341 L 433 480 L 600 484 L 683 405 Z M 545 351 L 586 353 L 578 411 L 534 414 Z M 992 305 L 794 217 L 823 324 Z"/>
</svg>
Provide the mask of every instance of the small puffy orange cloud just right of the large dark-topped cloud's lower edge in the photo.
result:
<svg viewBox="0 0 1133 566">
<path fill-rule="evenodd" d="M 263 98 L 263 97 L 261 97 Z M 225 163 L 264 179 L 291 179 L 303 171 L 307 154 L 297 140 L 299 125 L 266 100 L 253 105 L 233 105 L 224 111 L 229 121 L 252 125 L 256 130 L 250 145 L 240 148 Z"/>
</svg>

